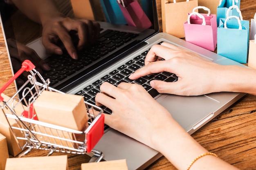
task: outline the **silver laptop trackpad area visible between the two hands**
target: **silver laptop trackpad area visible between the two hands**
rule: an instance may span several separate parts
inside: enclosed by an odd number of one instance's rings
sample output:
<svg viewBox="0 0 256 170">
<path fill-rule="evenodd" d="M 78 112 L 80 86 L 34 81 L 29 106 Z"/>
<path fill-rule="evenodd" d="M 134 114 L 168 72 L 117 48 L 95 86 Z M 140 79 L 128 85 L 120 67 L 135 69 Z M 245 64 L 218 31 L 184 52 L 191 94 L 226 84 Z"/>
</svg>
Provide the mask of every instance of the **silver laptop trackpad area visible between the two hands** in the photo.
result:
<svg viewBox="0 0 256 170">
<path fill-rule="evenodd" d="M 161 99 L 160 99 L 161 98 Z M 207 96 L 177 96 L 166 95 L 157 99 L 164 106 L 186 131 L 189 131 L 195 124 L 204 118 L 211 118 L 213 108 L 220 102 Z"/>
</svg>

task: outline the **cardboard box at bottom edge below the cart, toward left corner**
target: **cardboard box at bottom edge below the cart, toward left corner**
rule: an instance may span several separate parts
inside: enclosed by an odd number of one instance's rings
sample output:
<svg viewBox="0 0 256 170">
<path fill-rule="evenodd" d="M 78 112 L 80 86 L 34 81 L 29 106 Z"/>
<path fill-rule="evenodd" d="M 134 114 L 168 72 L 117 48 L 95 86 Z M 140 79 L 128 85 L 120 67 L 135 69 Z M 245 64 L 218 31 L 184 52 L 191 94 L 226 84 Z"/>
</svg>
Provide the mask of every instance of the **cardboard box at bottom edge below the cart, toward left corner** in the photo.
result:
<svg viewBox="0 0 256 170">
<path fill-rule="evenodd" d="M 68 170 L 67 155 L 8 158 L 5 170 Z"/>
</svg>

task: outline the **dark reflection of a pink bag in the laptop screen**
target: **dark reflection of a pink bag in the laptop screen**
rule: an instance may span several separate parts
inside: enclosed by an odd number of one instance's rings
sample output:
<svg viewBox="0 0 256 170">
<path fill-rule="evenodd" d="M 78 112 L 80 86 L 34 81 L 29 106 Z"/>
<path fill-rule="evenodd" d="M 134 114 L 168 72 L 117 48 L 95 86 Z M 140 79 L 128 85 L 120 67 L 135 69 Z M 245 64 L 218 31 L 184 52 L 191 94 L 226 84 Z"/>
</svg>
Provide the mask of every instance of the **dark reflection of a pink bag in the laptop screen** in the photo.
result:
<svg viewBox="0 0 256 170">
<path fill-rule="evenodd" d="M 146 29 L 152 26 L 137 0 L 118 0 L 117 2 L 129 26 Z"/>
</svg>

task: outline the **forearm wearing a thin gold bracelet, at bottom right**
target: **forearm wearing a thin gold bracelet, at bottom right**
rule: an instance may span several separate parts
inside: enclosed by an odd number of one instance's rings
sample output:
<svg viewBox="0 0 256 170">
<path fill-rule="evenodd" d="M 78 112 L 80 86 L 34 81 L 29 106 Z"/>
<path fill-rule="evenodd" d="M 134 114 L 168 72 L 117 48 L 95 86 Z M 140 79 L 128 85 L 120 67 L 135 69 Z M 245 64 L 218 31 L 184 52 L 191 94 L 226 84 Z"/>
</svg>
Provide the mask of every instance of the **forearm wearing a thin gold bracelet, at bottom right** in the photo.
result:
<svg viewBox="0 0 256 170">
<path fill-rule="evenodd" d="M 168 135 L 166 135 L 168 134 Z M 186 170 L 191 161 L 208 151 L 195 141 L 177 122 L 170 121 L 154 135 L 154 146 L 179 170 Z M 229 163 L 212 155 L 204 156 L 190 170 L 236 170 Z"/>
</svg>

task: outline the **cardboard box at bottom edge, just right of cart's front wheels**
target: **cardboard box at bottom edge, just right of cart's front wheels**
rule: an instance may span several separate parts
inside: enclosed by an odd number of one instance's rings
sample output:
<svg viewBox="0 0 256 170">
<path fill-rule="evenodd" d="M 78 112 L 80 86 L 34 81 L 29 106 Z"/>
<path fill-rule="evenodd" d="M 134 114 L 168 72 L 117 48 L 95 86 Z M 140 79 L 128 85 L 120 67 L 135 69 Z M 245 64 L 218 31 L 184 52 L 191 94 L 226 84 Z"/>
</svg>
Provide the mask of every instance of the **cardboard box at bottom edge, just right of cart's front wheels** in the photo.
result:
<svg viewBox="0 0 256 170">
<path fill-rule="evenodd" d="M 128 170 L 126 160 L 82 163 L 81 170 Z"/>
</svg>

